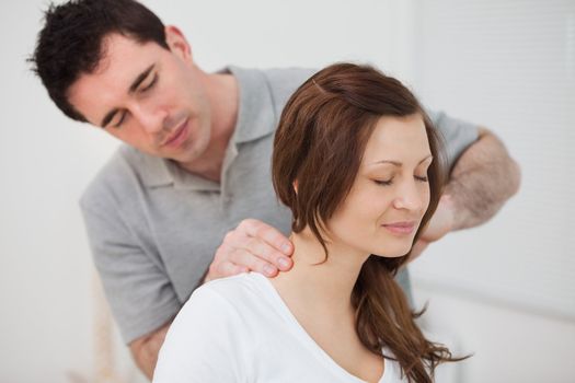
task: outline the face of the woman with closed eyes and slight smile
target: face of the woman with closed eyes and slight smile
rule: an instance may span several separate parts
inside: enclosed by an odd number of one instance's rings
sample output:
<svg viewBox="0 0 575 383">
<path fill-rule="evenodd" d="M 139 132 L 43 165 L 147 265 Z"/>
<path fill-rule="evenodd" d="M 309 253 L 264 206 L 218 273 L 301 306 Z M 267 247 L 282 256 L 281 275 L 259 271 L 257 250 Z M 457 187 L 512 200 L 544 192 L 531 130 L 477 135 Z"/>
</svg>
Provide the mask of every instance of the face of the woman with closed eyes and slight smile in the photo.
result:
<svg viewBox="0 0 575 383">
<path fill-rule="evenodd" d="M 331 240 L 365 254 L 407 254 L 429 205 L 432 160 L 419 114 L 381 117 L 348 196 L 327 222 Z"/>
</svg>

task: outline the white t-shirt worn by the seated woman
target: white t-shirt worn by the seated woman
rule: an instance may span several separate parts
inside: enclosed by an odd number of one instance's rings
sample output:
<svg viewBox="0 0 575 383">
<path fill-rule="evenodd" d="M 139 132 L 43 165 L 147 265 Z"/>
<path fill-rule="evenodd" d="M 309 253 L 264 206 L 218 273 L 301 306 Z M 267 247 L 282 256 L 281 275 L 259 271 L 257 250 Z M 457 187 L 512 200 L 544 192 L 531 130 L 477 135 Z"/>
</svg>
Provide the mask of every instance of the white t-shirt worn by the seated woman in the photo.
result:
<svg viewBox="0 0 575 383">
<path fill-rule="evenodd" d="M 379 383 L 406 382 L 386 359 Z M 364 382 L 300 326 L 269 280 L 249 272 L 197 289 L 168 332 L 154 383 Z"/>
</svg>

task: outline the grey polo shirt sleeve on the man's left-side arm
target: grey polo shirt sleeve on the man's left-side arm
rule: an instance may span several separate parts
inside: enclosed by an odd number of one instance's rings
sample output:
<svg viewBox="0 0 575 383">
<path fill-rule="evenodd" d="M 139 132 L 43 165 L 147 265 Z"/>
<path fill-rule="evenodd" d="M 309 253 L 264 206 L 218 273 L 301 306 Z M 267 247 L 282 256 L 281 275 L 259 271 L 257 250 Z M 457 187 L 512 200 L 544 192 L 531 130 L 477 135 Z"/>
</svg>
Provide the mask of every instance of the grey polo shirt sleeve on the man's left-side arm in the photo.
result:
<svg viewBox="0 0 575 383">
<path fill-rule="evenodd" d="M 163 265 L 125 223 L 122 205 L 102 183 L 92 185 L 80 200 L 107 302 L 129 344 L 171 321 L 182 303 Z"/>
</svg>

